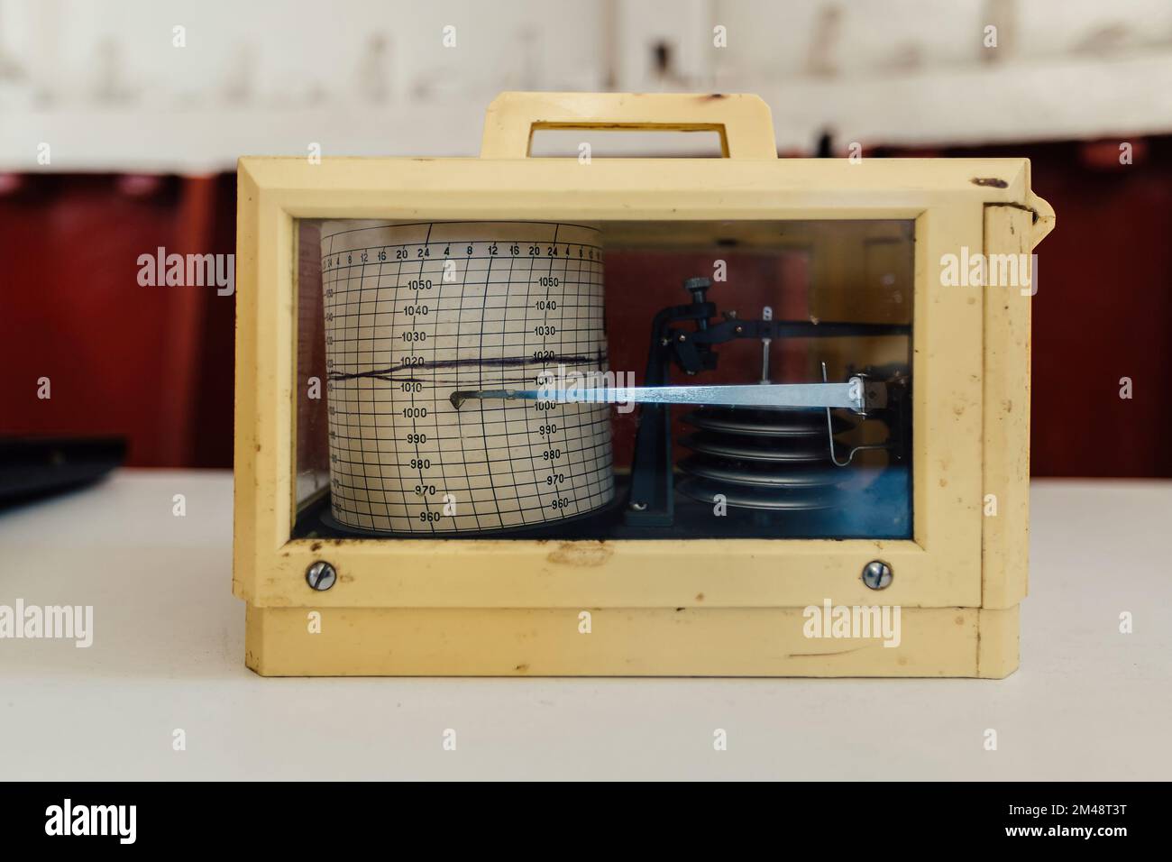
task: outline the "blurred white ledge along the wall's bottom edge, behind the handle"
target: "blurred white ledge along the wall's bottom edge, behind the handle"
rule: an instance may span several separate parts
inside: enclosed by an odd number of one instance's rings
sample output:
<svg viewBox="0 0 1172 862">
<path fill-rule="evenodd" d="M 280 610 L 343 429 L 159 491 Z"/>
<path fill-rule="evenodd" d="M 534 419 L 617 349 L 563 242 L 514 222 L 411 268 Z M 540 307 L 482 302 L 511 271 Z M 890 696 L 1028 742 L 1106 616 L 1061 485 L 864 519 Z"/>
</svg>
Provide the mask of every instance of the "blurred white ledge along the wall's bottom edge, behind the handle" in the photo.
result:
<svg viewBox="0 0 1172 862">
<path fill-rule="evenodd" d="M 837 150 L 856 142 L 871 150 L 1104 136 L 1130 141 L 1172 129 L 1172 50 L 1127 60 L 945 69 L 931 76 L 800 79 L 756 87 L 745 81 L 727 89 L 755 91 L 769 102 L 783 155 L 808 154 L 827 133 Z M 241 155 L 306 157 L 311 144 L 325 156 L 475 156 L 491 97 L 377 108 L 18 109 L 6 111 L 0 130 L 0 170 L 210 174 L 234 170 Z M 581 137 L 572 134 L 574 142 Z M 550 137 L 534 138 L 534 155 L 575 152 L 568 137 Z M 703 135 L 595 137 L 604 137 L 599 155 L 716 154 Z M 41 142 L 52 145 L 49 165 L 38 164 Z"/>
</svg>

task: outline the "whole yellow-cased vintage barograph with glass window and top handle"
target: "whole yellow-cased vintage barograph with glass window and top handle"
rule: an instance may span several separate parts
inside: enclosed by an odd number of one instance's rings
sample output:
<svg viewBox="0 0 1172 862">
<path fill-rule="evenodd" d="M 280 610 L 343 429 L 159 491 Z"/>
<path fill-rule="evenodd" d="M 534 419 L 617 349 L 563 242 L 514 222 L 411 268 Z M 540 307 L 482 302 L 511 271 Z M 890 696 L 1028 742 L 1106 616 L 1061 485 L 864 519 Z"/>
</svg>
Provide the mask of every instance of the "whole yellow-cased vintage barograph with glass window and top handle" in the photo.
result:
<svg viewBox="0 0 1172 862">
<path fill-rule="evenodd" d="M 723 157 L 591 157 L 628 129 Z M 1052 225 L 1026 159 L 778 158 L 747 95 L 507 93 L 479 158 L 241 158 L 247 665 L 1004 677 Z"/>
</svg>

